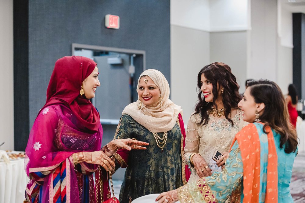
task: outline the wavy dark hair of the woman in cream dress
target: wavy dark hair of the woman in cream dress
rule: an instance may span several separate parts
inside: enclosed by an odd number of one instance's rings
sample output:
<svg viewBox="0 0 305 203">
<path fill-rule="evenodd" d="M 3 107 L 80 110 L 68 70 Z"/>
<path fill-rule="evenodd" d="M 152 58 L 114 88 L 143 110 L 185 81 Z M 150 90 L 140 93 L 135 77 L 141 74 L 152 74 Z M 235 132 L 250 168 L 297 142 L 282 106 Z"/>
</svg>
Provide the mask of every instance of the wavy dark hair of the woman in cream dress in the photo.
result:
<svg viewBox="0 0 305 203">
<path fill-rule="evenodd" d="M 226 119 L 231 122 L 233 125 L 233 121 L 229 118 L 229 114 L 231 114 L 231 109 L 238 109 L 238 103 L 241 100 L 241 96 L 239 94 L 239 85 L 236 82 L 235 76 L 231 72 L 230 66 L 221 62 L 215 62 L 210 65 L 204 66 L 197 76 L 197 86 L 200 90 L 201 88 L 201 75 L 204 74 L 204 77 L 208 79 L 213 85 L 213 103 L 206 102 L 203 96 L 203 93 L 200 91 L 198 93 L 198 102 L 195 107 L 194 114 L 201 114 L 201 121 L 196 124 L 206 125 L 209 122 L 209 115 L 207 113 L 213 106 L 216 106 L 215 101 L 218 98 L 218 87 L 222 86 L 224 91 L 222 93 L 222 102 L 224 107 L 226 108 L 224 115 Z"/>
</svg>

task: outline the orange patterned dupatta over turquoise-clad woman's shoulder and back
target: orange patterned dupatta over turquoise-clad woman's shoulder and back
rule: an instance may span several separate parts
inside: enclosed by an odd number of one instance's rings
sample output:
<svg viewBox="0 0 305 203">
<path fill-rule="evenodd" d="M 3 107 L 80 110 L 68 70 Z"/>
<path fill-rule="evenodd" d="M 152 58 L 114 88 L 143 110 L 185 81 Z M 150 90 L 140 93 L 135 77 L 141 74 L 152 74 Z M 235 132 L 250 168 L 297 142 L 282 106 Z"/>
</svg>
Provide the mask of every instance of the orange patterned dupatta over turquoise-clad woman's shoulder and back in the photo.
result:
<svg viewBox="0 0 305 203">
<path fill-rule="evenodd" d="M 268 165 L 265 203 L 274 203 L 278 202 L 278 156 L 271 128 L 267 126 L 266 131 L 268 132 Z M 235 135 L 231 147 L 236 140 L 241 150 L 243 163 L 243 202 L 259 202 L 260 139 L 257 127 L 251 123 L 242 128 Z"/>
</svg>

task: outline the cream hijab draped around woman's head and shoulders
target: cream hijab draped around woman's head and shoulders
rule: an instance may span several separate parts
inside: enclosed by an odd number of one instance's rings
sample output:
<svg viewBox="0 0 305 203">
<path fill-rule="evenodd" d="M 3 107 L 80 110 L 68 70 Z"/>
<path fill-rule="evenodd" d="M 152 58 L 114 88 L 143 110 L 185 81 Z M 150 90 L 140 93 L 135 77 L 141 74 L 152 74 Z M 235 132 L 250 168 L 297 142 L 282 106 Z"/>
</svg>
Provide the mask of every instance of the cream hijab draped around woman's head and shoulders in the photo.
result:
<svg viewBox="0 0 305 203">
<path fill-rule="evenodd" d="M 182 109 L 174 104 L 170 99 L 170 86 L 164 75 L 155 69 L 148 69 L 142 72 L 138 79 L 137 92 L 139 91 L 139 82 L 143 75 L 149 76 L 152 81 L 159 87 L 162 97 L 162 107 L 160 108 L 159 100 L 151 106 L 145 106 L 142 103 L 139 109 L 139 98 L 137 102 L 129 104 L 122 112 L 130 115 L 135 121 L 143 125 L 150 132 L 166 132 L 174 128 L 178 114 Z M 144 77 L 142 78 L 144 80 Z"/>
</svg>

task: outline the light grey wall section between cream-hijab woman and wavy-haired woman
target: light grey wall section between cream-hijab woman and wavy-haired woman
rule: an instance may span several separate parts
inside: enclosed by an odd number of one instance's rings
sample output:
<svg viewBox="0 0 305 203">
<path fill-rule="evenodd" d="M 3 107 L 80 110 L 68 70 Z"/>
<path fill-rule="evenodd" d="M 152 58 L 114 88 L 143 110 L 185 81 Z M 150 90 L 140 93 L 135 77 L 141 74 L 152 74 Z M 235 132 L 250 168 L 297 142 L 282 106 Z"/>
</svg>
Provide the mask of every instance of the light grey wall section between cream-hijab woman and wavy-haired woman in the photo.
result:
<svg viewBox="0 0 305 203">
<path fill-rule="evenodd" d="M 210 63 L 210 33 L 170 26 L 171 100 L 182 107 L 185 125 L 198 100 L 197 75 Z"/>
</svg>

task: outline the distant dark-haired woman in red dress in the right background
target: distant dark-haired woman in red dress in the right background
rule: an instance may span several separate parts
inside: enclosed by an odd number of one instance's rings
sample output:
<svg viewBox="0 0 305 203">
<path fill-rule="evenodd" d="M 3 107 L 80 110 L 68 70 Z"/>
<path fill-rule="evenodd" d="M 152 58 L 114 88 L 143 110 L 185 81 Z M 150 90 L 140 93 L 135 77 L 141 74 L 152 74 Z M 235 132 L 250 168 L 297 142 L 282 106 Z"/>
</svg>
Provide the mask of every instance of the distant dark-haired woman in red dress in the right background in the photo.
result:
<svg viewBox="0 0 305 203">
<path fill-rule="evenodd" d="M 285 98 L 288 112 L 290 116 L 290 122 L 296 128 L 296 118 L 298 117 L 298 112 L 296 111 L 296 103 L 298 101 L 298 95 L 296 93 L 296 87 L 293 84 L 288 86 L 288 95 Z"/>
</svg>

